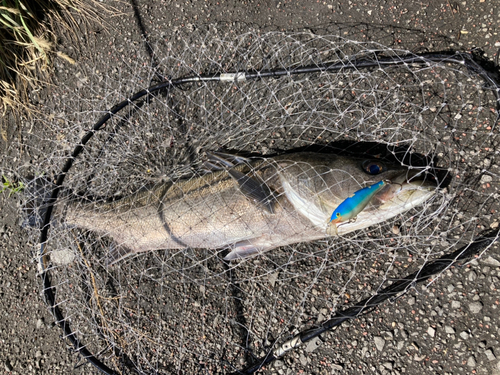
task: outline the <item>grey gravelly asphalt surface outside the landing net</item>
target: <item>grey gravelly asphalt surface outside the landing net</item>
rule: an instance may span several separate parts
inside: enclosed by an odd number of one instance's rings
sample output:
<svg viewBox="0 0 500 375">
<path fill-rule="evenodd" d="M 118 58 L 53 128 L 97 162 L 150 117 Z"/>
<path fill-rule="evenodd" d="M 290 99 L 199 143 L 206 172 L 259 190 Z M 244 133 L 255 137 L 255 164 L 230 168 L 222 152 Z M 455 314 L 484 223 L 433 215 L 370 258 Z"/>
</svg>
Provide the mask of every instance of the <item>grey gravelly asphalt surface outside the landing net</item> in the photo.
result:
<svg viewBox="0 0 500 375">
<path fill-rule="evenodd" d="M 425 35 L 441 48 L 479 47 L 490 59 L 500 48 L 498 1 L 432 1 L 426 5 L 375 0 L 331 5 L 326 1 L 132 0 L 110 5 L 118 15 L 107 17 L 108 31 L 91 25 L 86 33 L 77 34 L 82 42 L 78 48 L 62 38 L 61 49 L 84 66 L 82 70 L 92 66 L 96 74 L 114 70 L 116 60 L 108 57 L 108 46 L 121 45 L 125 54 L 144 49 L 141 30 L 167 31 L 212 22 L 238 22 L 235 33 L 250 26 L 316 31 L 365 23 L 367 32 L 387 28 L 404 35 Z M 403 39 L 396 43 L 406 46 Z M 71 80 L 72 72 L 58 69 L 56 74 L 59 81 Z M 45 98 L 42 95 L 38 100 L 43 103 Z M 8 143 L 16 131 L 9 128 L 7 134 Z M 0 142 L 4 152 L 6 142 Z M 6 374 L 93 373 L 61 339 L 61 330 L 45 308 L 16 204 L 15 197 L 0 196 L 0 370 Z M 295 374 L 307 368 L 305 371 L 317 374 L 500 374 L 498 250 L 497 245 L 482 259 L 447 271 L 428 290 L 411 293 L 326 335 L 324 339 L 332 339 L 334 345 L 323 344 L 308 356 L 286 357 L 268 373 Z M 311 370 L 307 367 L 311 362 L 321 367 Z"/>
</svg>

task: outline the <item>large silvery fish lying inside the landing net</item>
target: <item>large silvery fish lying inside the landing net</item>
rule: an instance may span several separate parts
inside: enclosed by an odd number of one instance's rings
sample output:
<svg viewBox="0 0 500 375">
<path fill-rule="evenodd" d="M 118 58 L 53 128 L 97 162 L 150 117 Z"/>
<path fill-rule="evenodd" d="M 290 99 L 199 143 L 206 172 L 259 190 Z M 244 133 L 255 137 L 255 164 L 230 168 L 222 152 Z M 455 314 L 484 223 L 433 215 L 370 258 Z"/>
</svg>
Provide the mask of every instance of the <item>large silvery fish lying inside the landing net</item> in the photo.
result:
<svg viewBox="0 0 500 375">
<path fill-rule="evenodd" d="M 368 228 L 424 203 L 438 189 L 417 168 L 371 156 L 209 155 L 209 173 L 109 202 L 66 199 L 54 212 L 68 227 L 112 239 L 110 266 L 161 249 L 229 251 L 224 260 L 233 261 Z M 367 186 L 373 193 L 355 221 L 331 220 L 332 212 Z"/>
</svg>

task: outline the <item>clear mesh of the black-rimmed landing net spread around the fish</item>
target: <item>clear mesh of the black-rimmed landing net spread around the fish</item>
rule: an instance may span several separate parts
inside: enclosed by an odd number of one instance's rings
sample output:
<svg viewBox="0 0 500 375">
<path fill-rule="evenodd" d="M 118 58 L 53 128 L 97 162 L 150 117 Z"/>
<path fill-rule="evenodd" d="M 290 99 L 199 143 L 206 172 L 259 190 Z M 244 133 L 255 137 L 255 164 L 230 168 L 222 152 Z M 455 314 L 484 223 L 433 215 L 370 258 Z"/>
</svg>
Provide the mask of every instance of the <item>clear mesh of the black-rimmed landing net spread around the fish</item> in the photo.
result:
<svg viewBox="0 0 500 375">
<path fill-rule="evenodd" d="M 473 60 L 463 63 L 469 54 L 450 54 L 448 61 L 334 35 L 232 35 L 214 27 L 154 38 L 151 65 L 123 60 L 123 70 L 81 73 L 71 86 L 54 88 L 64 107 L 45 103 L 39 126 L 12 145 L 21 151 L 13 157 L 24 160 L 16 173 L 39 177 L 27 183 L 23 210 L 25 222 L 31 215 L 27 235 L 36 254 L 35 224 L 44 211 L 30 207 L 40 207 L 65 172 L 40 272 L 61 314 L 58 324 L 70 327 L 65 336 L 74 334 L 106 371 L 243 371 L 280 354 L 272 353 L 298 332 L 498 226 L 498 88 Z M 337 68 L 322 69 L 328 65 Z M 307 69 L 288 74 L 298 67 Z M 146 87 L 234 72 L 275 73 L 165 85 L 91 131 L 110 108 Z M 211 173 L 207 161 L 217 151 L 257 159 L 342 154 L 416 170 L 440 186 L 383 222 L 232 262 L 223 260 L 230 246 L 180 246 L 109 266 L 116 238 L 67 221 L 71 209 L 92 206 L 102 215 L 118 207 L 118 222 L 134 208 L 120 202 L 162 184 L 182 196 L 186 181 Z M 244 172 L 251 176 L 251 166 Z M 360 182 L 350 194 L 375 182 Z M 151 195 L 141 199 L 154 201 Z M 37 212 L 42 217 L 33 219 Z M 191 224 L 184 222 L 185 231 Z M 304 370 L 314 371 L 319 361 L 306 361 Z"/>
</svg>

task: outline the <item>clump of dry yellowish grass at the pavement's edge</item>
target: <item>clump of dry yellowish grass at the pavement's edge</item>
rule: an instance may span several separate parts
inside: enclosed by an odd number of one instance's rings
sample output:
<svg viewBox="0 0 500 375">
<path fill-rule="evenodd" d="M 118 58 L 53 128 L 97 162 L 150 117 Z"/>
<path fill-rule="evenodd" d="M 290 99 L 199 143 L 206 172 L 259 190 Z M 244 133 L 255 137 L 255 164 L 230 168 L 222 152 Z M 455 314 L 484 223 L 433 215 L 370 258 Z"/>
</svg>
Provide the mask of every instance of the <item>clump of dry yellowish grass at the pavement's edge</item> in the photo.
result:
<svg viewBox="0 0 500 375">
<path fill-rule="evenodd" d="M 0 0 L 0 104 L 7 110 L 28 114 L 34 107 L 28 93 L 50 82 L 52 61 L 73 59 L 57 51 L 52 30 L 77 28 L 73 15 L 98 18 L 97 1 Z M 3 132 L 2 132 L 3 134 Z"/>
</svg>

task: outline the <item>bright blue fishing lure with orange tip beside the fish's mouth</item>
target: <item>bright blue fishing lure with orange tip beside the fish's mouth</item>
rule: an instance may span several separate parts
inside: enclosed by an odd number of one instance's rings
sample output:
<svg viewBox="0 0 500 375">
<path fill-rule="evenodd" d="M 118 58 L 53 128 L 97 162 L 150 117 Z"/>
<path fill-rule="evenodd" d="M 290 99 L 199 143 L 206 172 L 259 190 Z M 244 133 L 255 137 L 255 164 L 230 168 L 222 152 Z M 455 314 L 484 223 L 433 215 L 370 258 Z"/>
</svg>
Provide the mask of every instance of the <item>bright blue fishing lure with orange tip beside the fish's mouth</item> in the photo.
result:
<svg viewBox="0 0 500 375">
<path fill-rule="evenodd" d="M 368 203 L 370 203 L 373 196 L 389 183 L 390 182 L 387 180 L 379 181 L 376 184 L 356 191 L 353 195 L 344 200 L 332 213 L 328 223 L 329 232 L 331 232 L 331 234 L 336 234 L 337 226 L 335 224 L 337 223 L 356 220 L 356 216 L 358 216 Z"/>
</svg>

